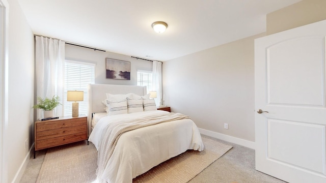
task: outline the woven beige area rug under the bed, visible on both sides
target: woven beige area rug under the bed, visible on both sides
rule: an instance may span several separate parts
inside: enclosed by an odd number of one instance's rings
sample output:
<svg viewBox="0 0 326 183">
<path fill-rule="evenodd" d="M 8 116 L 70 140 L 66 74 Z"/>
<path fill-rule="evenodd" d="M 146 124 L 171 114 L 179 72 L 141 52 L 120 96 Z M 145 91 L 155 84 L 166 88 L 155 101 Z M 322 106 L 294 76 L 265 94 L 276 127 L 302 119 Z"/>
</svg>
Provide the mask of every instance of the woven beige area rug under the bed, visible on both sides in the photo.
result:
<svg viewBox="0 0 326 183">
<path fill-rule="evenodd" d="M 187 182 L 224 155 L 230 145 L 203 137 L 205 149 L 188 150 L 133 179 L 133 182 Z M 49 148 L 36 182 L 95 182 L 97 151 L 76 142 Z"/>
</svg>

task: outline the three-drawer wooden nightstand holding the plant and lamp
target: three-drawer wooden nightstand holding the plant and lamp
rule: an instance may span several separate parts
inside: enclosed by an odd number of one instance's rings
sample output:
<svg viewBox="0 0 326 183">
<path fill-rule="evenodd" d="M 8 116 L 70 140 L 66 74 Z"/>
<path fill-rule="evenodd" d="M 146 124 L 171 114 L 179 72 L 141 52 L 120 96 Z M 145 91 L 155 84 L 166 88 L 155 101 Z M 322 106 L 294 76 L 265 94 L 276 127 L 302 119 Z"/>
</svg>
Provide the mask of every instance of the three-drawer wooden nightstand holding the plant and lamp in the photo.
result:
<svg viewBox="0 0 326 183">
<path fill-rule="evenodd" d="M 87 116 L 64 116 L 34 123 L 35 151 L 87 140 Z"/>
</svg>

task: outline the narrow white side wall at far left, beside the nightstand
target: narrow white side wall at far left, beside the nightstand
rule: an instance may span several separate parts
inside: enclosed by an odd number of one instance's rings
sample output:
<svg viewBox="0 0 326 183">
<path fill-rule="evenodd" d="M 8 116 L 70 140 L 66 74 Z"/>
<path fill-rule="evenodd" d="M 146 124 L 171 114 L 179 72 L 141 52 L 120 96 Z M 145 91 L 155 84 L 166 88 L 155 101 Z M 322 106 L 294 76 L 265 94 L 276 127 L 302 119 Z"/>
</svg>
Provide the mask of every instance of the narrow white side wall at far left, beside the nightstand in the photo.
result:
<svg viewBox="0 0 326 183">
<path fill-rule="evenodd" d="M 8 0 L 8 182 L 19 181 L 33 139 L 34 36 L 17 0 Z M 25 148 L 25 140 L 29 147 Z M 20 171 L 22 170 L 22 171 Z"/>
</svg>

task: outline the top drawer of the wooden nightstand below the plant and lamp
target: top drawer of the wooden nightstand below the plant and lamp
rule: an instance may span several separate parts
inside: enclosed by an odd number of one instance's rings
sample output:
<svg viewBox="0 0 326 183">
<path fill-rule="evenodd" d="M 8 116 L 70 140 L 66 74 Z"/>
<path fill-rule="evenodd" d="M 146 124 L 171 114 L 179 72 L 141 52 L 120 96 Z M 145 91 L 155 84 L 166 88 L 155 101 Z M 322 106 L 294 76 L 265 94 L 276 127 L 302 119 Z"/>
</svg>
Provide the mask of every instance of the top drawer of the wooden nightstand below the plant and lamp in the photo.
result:
<svg viewBox="0 0 326 183">
<path fill-rule="evenodd" d="M 60 129 L 66 127 L 75 127 L 79 125 L 87 125 L 87 119 L 85 118 L 73 118 L 65 120 L 54 120 L 48 122 L 37 123 L 37 132 L 42 132 L 46 130 Z"/>
</svg>

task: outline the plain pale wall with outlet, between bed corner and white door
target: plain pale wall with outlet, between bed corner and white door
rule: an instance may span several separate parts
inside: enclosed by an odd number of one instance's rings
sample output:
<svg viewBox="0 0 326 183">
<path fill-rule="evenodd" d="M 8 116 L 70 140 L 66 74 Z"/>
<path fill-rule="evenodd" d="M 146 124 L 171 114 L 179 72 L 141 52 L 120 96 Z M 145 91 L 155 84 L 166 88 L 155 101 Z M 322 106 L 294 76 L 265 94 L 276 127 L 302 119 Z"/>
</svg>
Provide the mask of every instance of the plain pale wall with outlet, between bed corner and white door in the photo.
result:
<svg viewBox="0 0 326 183">
<path fill-rule="evenodd" d="M 201 129 L 254 142 L 254 39 L 262 36 L 164 62 L 166 105 Z"/>
</svg>

